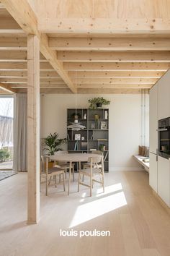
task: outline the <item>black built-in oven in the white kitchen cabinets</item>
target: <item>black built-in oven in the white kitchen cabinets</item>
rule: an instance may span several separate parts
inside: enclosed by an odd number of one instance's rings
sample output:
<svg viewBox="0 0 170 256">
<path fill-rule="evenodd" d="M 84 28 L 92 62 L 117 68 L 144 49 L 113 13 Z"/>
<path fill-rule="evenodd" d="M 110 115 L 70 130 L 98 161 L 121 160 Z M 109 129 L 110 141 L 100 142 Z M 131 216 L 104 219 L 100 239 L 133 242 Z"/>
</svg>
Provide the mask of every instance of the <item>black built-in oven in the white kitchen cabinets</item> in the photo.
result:
<svg viewBox="0 0 170 256">
<path fill-rule="evenodd" d="M 170 117 L 158 121 L 158 155 L 170 158 Z"/>
</svg>

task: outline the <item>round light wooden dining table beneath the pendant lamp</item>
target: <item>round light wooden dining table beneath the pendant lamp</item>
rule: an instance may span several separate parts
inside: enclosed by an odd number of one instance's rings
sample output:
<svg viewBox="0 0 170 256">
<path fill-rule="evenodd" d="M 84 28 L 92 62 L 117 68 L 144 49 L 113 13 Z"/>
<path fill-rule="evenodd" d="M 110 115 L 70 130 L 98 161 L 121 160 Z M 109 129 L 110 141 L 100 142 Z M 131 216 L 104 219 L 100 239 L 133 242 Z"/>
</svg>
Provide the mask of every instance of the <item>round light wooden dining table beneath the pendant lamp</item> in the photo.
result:
<svg viewBox="0 0 170 256">
<path fill-rule="evenodd" d="M 69 175 L 68 175 L 68 195 L 70 194 L 70 185 L 71 185 L 71 166 L 73 162 L 79 163 L 79 168 L 81 166 L 81 162 L 87 162 L 89 158 L 95 158 L 99 155 L 92 153 L 68 153 L 68 154 L 58 154 L 58 155 L 50 155 L 51 161 L 61 161 L 61 162 L 69 162 Z"/>
</svg>

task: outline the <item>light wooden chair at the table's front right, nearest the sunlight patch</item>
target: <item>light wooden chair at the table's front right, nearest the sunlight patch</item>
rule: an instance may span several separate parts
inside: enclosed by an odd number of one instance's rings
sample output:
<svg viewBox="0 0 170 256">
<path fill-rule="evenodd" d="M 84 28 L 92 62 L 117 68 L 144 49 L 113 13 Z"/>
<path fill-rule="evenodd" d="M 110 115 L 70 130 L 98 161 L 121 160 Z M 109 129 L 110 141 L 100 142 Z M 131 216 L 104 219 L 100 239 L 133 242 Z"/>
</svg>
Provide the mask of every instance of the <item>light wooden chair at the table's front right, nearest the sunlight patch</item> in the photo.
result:
<svg viewBox="0 0 170 256">
<path fill-rule="evenodd" d="M 88 159 L 90 163 L 90 168 L 84 168 L 79 170 L 79 182 L 78 182 L 78 192 L 80 184 L 90 188 L 90 196 L 92 195 L 92 188 L 95 182 L 102 184 L 103 192 L 104 192 L 104 158 L 103 155 L 99 155 L 96 157 L 91 157 Z M 99 168 L 98 164 L 102 163 L 102 168 Z M 81 166 L 81 165 L 80 165 Z M 94 167 L 95 166 L 95 167 Z M 88 176 L 89 177 L 89 184 L 85 184 L 81 180 L 81 176 Z M 96 176 L 99 176 L 99 179 L 96 179 Z"/>
</svg>

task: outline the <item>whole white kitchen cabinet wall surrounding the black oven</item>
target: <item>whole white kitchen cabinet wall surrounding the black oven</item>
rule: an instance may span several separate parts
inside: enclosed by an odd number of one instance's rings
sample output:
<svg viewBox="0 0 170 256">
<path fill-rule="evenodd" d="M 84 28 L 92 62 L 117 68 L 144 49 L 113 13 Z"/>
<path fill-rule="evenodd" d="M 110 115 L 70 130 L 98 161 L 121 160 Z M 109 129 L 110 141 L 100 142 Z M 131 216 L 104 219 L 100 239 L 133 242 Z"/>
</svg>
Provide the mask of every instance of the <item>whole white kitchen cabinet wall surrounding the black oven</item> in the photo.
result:
<svg viewBox="0 0 170 256">
<path fill-rule="evenodd" d="M 170 70 L 150 90 L 149 184 L 170 207 L 170 160 L 158 156 L 158 120 L 170 116 Z"/>
</svg>

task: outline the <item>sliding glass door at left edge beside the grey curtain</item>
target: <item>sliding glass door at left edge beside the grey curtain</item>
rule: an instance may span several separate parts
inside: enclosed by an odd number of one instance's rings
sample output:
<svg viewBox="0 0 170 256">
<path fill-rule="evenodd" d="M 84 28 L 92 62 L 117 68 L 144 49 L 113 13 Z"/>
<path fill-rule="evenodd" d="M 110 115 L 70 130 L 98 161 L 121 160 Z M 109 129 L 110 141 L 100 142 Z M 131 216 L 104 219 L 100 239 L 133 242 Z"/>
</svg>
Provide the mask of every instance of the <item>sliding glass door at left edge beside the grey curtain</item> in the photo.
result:
<svg viewBox="0 0 170 256">
<path fill-rule="evenodd" d="M 14 98 L 0 97 L 0 169 L 12 169 L 14 135 Z"/>
</svg>

